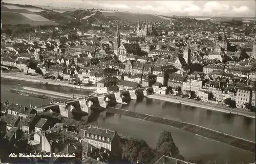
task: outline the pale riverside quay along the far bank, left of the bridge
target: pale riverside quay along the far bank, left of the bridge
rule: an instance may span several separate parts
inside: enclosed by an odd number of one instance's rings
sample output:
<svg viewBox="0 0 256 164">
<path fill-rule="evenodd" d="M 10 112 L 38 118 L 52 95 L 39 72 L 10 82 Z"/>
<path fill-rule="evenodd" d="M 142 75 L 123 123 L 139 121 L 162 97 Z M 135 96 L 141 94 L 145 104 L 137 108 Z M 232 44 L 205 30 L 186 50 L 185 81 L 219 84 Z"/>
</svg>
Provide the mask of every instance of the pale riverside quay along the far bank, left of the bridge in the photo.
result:
<svg viewBox="0 0 256 164">
<path fill-rule="evenodd" d="M 22 80 L 22 81 L 29 81 L 35 83 L 43 83 L 43 84 L 51 84 L 51 85 L 58 85 L 58 86 L 67 86 L 73 87 L 77 89 L 86 89 L 86 90 L 97 90 L 97 87 L 94 86 L 75 86 L 69 84 L 68 81 L 60 81 L 60 80 L 52 80 L 52 79 L 44 79 L 42 76 L 29 76 L 24 75 L 24 73 L 1 73 L 1 78 L 13 79 L 13 80 Z"/>
</svg>

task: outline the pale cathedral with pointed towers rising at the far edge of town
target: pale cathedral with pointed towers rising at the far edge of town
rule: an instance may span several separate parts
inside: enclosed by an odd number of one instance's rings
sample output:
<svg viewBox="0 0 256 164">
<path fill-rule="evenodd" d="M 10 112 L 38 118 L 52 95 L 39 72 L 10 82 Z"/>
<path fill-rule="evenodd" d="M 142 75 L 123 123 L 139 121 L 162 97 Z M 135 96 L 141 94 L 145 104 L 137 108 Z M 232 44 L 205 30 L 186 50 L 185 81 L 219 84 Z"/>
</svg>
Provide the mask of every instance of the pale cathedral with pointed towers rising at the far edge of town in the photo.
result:
<svg viewBox="0 0 256 164">
<path fill-rule="evenodd" d="M 150 23 L 148 24 L 147 19 L 145 21 L 145 25 L 142 27 L 141 26 L 141 22 L 140 20 L 138 21 L 138 26 L 136 28 L 136 35 L 138 37 L 143 37 L 143 36 L 147 36 L 147 35 L 152 35 L 153 32 L 153 24 L 150 21 Z"/>
</svg>

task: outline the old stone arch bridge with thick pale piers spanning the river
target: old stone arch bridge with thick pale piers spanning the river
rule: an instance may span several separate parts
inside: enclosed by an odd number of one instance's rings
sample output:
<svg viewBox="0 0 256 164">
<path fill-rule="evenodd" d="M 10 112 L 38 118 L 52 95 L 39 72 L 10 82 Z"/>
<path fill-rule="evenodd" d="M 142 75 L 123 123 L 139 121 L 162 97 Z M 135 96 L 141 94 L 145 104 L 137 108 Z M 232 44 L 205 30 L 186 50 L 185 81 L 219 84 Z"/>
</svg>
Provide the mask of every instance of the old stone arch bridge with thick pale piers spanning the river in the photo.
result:
<svg viewBox="0 0 256 164">
<path fill-rule="evenodd" d="M 101 93 L 96 96 L 83 97 L 74 100 L 67 100 L 65 102 L 40 106 L 37 107 L 36 110 L 41 112 L 58 112 L 67 117 L 69 117 L 69 114 L 73 110 L 76 110 L 77 112 L 87 112 L 90 115 L 92 108 L 106 108 L 109 103 L 123 103 L 127 100 L 137 100 L 146 95 L 151 95 L 152 93 L 152 87 L 123 90 L 113 93 Z"/>
</svg>

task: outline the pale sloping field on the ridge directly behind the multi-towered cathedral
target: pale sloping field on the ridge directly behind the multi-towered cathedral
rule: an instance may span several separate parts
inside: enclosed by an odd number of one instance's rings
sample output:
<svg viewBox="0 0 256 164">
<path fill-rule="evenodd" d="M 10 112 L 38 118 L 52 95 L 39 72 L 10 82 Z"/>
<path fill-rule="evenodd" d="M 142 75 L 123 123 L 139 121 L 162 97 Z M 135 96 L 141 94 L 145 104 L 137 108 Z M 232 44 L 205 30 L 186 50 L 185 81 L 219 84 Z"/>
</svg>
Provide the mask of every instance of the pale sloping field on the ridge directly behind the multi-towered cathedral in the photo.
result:
<svg viewBox="0 0 256 164">
<path fill-rule="evenodd" d="M 102 11 L 102 15 L 108 16 L 108 17 L 116 17 L 120 20 L 126 20 L 126 21 L 138 21 L 139 19 L 141 21 L 145 21 L 146 19 L 148 21 L 166 21 L 166 18 L 162 18 L 162 17 L 156 16 L 156 15 L 150 15 L 150 14 Z"/>
</svg>

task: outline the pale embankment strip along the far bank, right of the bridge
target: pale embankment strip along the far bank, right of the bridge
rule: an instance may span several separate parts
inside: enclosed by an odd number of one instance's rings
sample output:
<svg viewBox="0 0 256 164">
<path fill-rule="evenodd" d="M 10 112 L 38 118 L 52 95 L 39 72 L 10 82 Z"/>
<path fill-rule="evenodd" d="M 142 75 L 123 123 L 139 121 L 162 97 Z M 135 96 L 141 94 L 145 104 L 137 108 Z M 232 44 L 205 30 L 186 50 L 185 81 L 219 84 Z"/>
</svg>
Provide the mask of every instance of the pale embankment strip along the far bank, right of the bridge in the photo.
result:
<svg viewBox="0 0 256 164">
<path fill-rule="evenodd" d="M 230 113 L 230 114 L 237 114 L 237 115 L 242 115 L 242 116 L 246 116 L 248 118 L 255 119 L 254 112 L 243 111 L 242 109 L 231 109 L 231 108 L 221 107 L 221 106 L 214 105 L 214 104 L 209 104 L 209 103 L 195 101 L 195 100 L 188 100 L 188 99 L 179 98 L 179 97 L 177 97 L 177 99 L 176 99 L 176 97 L 168 96 L 168 95 L 154 94 L 154 95 L 148 95 L 146 97 L 152 98 L 152 99 L 157 99 L 157 100 L 163 100 L 163 101 L 167 101 L 167 102 L 172 102 L 172 103 L 177 103 L 177 104 L 179 104 L 181 102 L 182 105 L 188 105 L 188 106 L 193 106 L 193 107 L 198 107 L 198 108 L 203 108 L 203 109 L 208 109 L 208 110 L 214 110 L 214 111 L 219 111 L 219 112 L 224 112 L 224 113 Z"/>
</svg>

